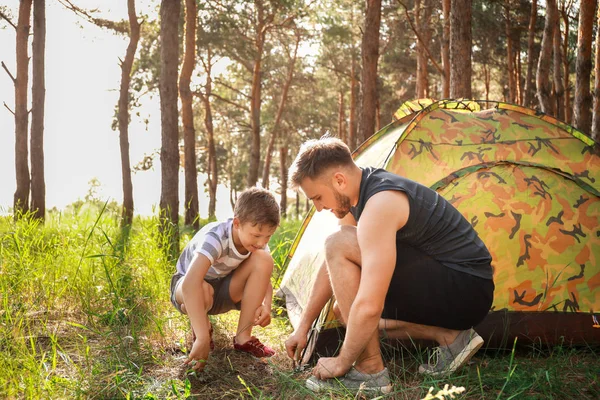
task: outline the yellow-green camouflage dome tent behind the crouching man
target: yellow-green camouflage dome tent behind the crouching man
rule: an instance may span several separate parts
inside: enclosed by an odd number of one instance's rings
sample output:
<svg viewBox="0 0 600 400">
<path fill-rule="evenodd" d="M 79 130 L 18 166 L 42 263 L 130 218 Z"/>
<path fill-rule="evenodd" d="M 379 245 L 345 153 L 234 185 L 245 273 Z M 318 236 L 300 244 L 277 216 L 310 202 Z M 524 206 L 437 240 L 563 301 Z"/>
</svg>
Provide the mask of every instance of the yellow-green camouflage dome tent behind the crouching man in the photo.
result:
<svg viewBox="0 0 600 400">
<path fill-rule="evenodd" d="M 395 117 L 355 160 L 437 190 L 477 230 L 496 284 L 482 336 L 600 343 L 600 146 L 505 103 L 420 100 Z M 331 213 L 313 209 L 292 246 L 280 293 L 294 326 L 335 228 Z M 337 325 L 330 308 L 313 334 Z"/>
</svg>

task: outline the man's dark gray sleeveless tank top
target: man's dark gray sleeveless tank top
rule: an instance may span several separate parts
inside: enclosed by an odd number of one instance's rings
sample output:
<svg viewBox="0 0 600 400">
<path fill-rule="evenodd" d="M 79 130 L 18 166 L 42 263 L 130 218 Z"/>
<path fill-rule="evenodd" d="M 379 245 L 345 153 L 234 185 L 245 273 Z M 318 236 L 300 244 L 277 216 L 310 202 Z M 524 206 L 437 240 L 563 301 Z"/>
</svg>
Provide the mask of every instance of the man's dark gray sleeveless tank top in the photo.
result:
<svg viewBox="0 0 600 400">
<path fill-rule="evenodd" d="M 371 196 L 398 190 L 408 196 L 408 221 L 396 233 L 407 243 L 457 271 L 492 279 L 492 256 L 463 215 L 436 191 L 380 168 L 364 168 L 358 203 L 350 212 L 358 222 Z"/>
</svg>

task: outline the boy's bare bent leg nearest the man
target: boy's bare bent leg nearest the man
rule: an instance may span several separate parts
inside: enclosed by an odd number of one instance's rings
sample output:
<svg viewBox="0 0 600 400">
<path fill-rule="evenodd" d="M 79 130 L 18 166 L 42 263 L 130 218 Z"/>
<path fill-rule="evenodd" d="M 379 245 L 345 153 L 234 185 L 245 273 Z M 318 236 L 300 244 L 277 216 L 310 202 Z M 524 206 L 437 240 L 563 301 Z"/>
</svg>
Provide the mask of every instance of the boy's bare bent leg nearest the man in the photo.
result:
<svg viewBox="0 0 600 400">
<path fill-rule="evenodd" d="M 235 342 L 244 344 L 252 337 L 256 309 L 262 304 L 273 272 L 273 258 L 266 251 L 252 253 L 233 272 L 229 295 L 234 303 L 242 301 Z"/>
</svg>

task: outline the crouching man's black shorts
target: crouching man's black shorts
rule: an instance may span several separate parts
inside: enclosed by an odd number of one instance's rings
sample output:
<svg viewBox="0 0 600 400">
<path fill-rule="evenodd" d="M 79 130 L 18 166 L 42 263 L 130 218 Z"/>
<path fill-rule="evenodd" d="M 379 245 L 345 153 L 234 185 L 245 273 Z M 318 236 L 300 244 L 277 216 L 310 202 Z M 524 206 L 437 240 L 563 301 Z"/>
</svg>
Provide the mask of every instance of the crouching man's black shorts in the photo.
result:
<svg viewBox="0 0 600 400">
<path fill-rule="evenodd" d="M 493 280 L 446 267 L 404 243 L 396 251 L 382 318 L 455 330 L 483 321 L 494 299 Z"/>
</svg>

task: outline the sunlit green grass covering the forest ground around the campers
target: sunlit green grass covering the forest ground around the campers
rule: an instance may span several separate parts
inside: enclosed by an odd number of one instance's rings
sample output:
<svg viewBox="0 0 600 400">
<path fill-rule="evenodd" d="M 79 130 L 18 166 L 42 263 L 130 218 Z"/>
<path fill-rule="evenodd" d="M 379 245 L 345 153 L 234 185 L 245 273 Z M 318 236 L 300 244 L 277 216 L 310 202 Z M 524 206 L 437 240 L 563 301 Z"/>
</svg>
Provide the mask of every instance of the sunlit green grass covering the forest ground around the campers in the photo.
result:
<svg viewBox="0 0 600 400">
<path fill-rule="evenodd" d="M 300 225 L 286 221 L 270 248 L 277 285 Z M 316 399 L 295 372 L 283 341 L 292 328 L 281 307 L 255 334 L 278 354 L 255 361 L 234 352 L 237 312 L 213 318 L 216 350 L 206 370 L 189 374 L 189 322 L 169 303 L 174 269 L 161 247 L 158 221 L 136 219 L 131 231 L 103 206 L 51 213 L 44 225 L 0 217 L 0 398 Z M 192 232 L 182 231 L 182 245 Z M 394 393 L 424 398 L 450 386 L 457 398 L 600 398 L 600 350 L 540 345 L 485 349 L 449 378 L 417 374 L 426 355 L 393 349 Z M 347 393 L 326 398 L 350 399 Z"/>
</svg>

